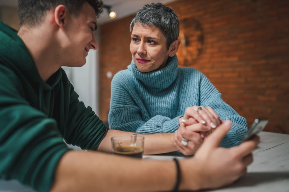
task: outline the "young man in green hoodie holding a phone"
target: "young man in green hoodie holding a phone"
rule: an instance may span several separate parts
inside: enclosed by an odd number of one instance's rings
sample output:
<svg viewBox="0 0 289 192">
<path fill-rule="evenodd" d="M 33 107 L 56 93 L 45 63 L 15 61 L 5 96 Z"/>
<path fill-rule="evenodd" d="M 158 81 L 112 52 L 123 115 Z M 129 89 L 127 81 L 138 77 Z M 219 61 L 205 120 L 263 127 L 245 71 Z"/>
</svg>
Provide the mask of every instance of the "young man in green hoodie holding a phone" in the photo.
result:
<svg viewBox="0 0 289 192">
<path fill-rule="evenodd" d="M 63 138 L 83 149 L 109 152 L 112 136 L 131 134 L 108 130 L 79 102 L 60 68 L 84 65 L 88 51 L 97 49 L 94 31 L 101 9 L 99 0 L 19 0 L 18 33 L 0 22 L 0 176 L 37 191 L 71 192 L 169 191 L 175 183 L 180 190 L 196 190 L 220 187 L 245 174 L 258 138 L 234 148 L 218 147 L 229 121 L 194 158 L 179 161 L 180 171 L 174 161 L 67 148 Z M 144 136 L 146 154 L 176 150 L 174 134 Z"/>
</svg>

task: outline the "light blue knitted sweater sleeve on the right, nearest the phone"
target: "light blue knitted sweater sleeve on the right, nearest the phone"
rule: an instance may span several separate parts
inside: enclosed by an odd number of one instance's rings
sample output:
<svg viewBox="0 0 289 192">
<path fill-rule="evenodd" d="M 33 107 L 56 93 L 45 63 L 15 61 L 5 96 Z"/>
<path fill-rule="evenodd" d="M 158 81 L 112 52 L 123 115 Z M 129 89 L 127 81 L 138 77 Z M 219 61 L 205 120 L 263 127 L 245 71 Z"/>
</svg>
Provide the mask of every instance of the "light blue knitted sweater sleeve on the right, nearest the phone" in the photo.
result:
<svg viewBox="0 0 289 192">
<path fill-rule="evenodd" d="M 238 145 L 247 132 L 247 120 L 223 101 L 221 93 L 203 74 L 201 74 L 200 79 L 200 105 L 212 107 L 220 119 L 231 120 L 231 129 L 221 141 L 221 146 L 232 147 Z"/>
</svg>

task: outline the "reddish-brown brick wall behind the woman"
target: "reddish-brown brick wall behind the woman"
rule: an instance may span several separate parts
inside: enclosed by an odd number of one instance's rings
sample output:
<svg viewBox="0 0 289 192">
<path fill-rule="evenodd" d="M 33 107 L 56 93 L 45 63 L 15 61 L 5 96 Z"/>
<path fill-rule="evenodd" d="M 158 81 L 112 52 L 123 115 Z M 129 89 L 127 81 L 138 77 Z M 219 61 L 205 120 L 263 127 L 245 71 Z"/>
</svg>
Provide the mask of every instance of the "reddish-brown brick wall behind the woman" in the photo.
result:
<svg viewBox="0 0 289 192">
<path fill-rule="evenodd" d="M 179 66 L 202 71 L 223 99 L 251 125 L 268 117 L 266 131 L 289 134 L 289 1 L 179 0 Z M 101 26 L 100 117 L 107 120 L 113 74 L 131 61 L 134 15 Z M 184 43 L 185 42 L 185 43 Z"/>
</svg>

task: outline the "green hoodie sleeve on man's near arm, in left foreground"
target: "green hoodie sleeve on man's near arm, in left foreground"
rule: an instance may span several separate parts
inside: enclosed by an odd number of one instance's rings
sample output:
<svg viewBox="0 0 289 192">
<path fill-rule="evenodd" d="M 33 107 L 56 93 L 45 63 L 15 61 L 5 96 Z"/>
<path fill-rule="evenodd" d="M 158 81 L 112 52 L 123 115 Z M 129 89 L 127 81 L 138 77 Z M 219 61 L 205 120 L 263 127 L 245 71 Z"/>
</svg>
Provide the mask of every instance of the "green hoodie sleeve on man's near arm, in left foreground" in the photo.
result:
<svg viewBox="0 0 289 192">
<path fill-rule="evenodd" d="M 0 176 L 49 191 L 55 168 L 69 149 L 56 121 L 25 100 L 19 81 L 0 65 Z"/>
</svg>

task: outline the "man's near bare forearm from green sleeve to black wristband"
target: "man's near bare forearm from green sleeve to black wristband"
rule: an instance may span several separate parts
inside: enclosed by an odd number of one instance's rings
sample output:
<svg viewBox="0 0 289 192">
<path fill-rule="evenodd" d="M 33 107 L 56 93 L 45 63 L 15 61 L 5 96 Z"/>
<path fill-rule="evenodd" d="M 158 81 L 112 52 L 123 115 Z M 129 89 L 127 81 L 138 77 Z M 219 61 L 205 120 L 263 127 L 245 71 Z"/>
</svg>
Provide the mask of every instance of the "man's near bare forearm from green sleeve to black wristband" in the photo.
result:
<svg viewBox="0 0 289 192">
<path fill-rule="evenodd" d="M 173 161 L 69 151 L 58 164 L 51 191 L 170 191 L 175 182 Z"/>
</svg>

